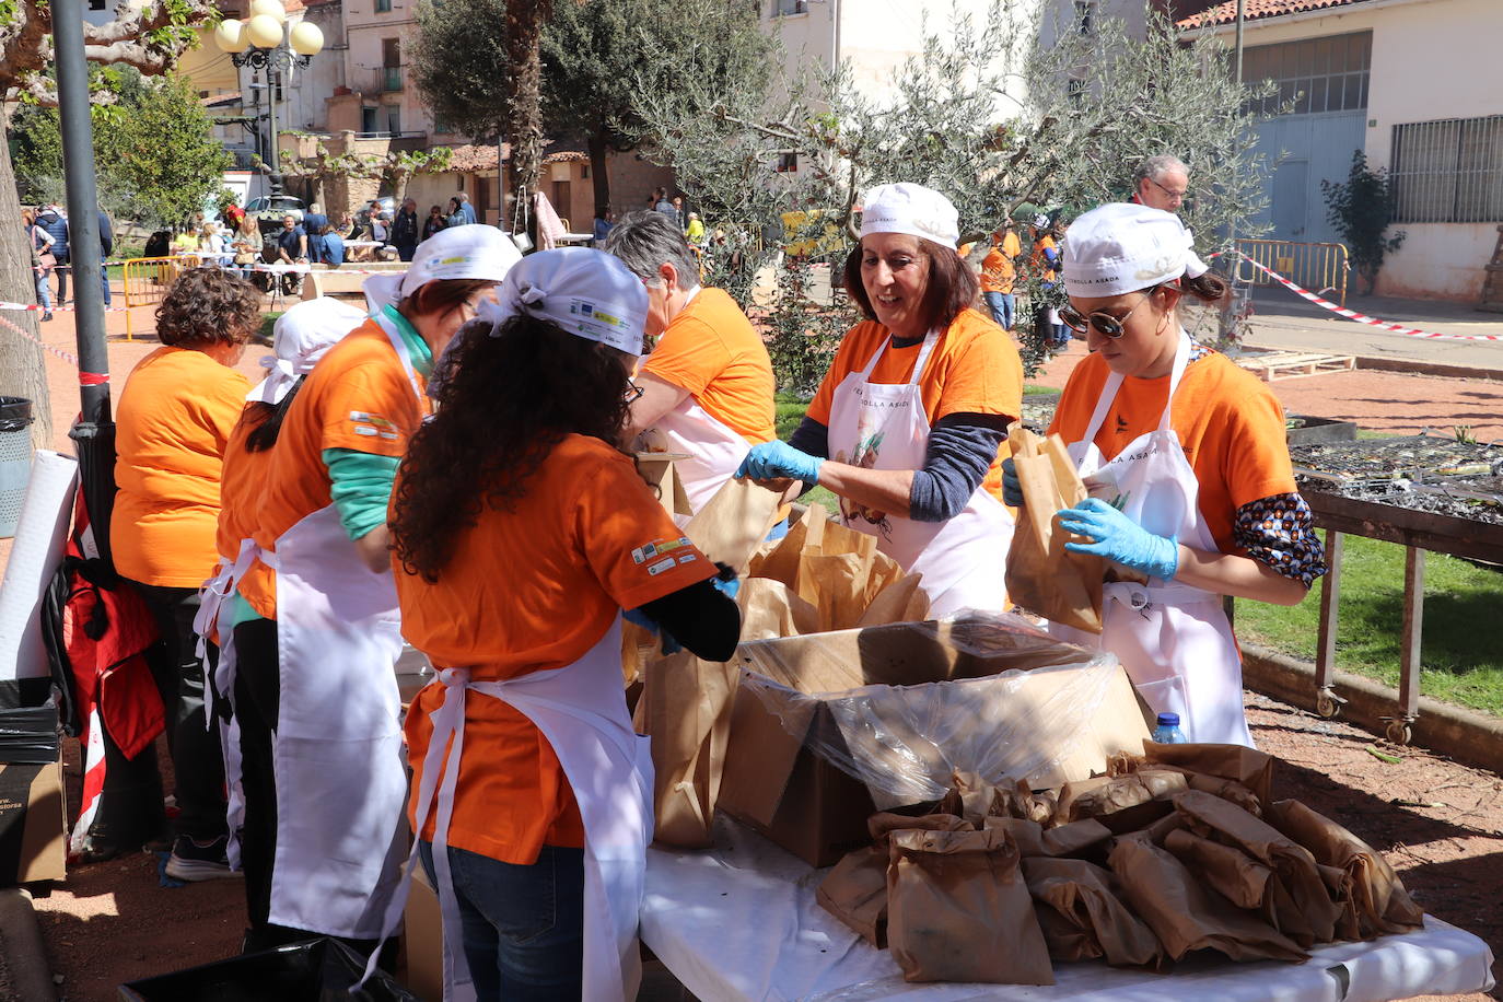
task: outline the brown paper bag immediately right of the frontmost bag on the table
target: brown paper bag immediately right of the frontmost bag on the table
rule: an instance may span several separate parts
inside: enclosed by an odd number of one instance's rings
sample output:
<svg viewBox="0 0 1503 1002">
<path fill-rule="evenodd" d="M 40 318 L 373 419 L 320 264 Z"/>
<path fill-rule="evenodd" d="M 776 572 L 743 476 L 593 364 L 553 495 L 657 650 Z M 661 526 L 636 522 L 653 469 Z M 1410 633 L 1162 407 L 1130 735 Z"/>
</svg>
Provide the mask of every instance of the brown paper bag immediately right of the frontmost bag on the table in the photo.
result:
<svg viewBox="0 0 1503 1002">
<path fill-rule="evenodd" d="M 1084 859 L 1025 858 L 1022 871 L 1054 960 L 1105 957 L 1118 967 L 1163 961 L 1159 937 L 1118 900 L 1106 870 Z"/>
</svg>

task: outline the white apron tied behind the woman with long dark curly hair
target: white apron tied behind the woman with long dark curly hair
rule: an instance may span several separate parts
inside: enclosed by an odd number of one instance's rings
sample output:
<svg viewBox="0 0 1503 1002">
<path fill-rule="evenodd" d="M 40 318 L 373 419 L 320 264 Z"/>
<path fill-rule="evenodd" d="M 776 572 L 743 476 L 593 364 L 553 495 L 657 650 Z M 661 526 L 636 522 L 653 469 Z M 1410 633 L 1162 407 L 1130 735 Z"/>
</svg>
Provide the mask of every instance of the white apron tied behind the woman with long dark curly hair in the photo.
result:
<svg viewBox="0 0 1503 1002">
<path fill-rule="evenodd" d="M 449 876 L 448 828 L 464 748 L 464 705 L 470 693 L 499 699 L 543 732 L 574 790 L 585 822 L 585 967 L 580 997 L 630 1000 L 637 994 L 642 960 L 637 915 L 652 841 L 652 756 L 636 735 L 621 691 L 621 619 L 579 661 L 500 682 L 476 682 L 467 669 L 442 669 L 443 703 L 431 715 L 433 736 L 418 786 L 416 832 L 428 823 L 437 792 L 433 870 L 443 915 L 443 999 L 469 1002 L 475 985 L 460 948 L 460 912 Z M 454 751 L 443 748 L 454 736 Z M 439 774 L 442 771 L 442 781 Z M 418 843 L 407 861 L 416 865 Z M 403 892 L 391 904 L 385 933 L 401 919 Z M 365 969 L 376 964 L 371 954 Z"/>
</svg>

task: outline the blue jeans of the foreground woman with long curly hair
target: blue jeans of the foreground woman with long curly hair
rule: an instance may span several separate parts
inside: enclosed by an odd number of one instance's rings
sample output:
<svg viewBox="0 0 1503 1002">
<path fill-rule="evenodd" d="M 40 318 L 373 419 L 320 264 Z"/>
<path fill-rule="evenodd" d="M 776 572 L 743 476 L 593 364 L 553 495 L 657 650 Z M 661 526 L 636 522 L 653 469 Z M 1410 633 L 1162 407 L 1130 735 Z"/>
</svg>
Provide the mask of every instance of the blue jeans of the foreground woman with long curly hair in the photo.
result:
<svg viewBox="0 0 1503 1002">
<path fill-rule="evenodd" d="M 433 874 L 433 843 L 418 846 Z M 544 846 L 532 865 L 449 846 L 460 942 L 479 1002 L 577 999 L 585 963 L 585 850 Z M 452 931 L 452 930 L 451 930 Z"/>
</svg>

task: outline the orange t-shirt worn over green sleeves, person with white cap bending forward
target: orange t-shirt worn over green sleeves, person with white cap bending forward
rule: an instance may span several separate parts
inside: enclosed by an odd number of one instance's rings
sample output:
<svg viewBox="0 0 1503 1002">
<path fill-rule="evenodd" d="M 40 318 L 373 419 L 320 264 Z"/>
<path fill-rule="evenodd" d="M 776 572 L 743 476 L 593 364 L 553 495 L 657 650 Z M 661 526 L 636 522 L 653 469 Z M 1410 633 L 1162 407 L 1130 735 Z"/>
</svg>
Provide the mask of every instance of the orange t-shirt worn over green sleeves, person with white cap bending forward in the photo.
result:
<svg viewBox="0 0 1503 1002">
<path fill-rule="evenodd" d="M 421 376 L 418 385 L 424 386 Z M 419 401 L 413 394 L 380 324 L 367 320 L 341 338 L 283 418 L 256 512 L 256 542 L 275 551 L 284 532 L 332 503 L 325 449 L 400 458 L 427 413 L 427 397 Z M 259 614 L 277 617 L 277 581 L 265 563 L 253 563 L 236 587 Z"/>
</svg>

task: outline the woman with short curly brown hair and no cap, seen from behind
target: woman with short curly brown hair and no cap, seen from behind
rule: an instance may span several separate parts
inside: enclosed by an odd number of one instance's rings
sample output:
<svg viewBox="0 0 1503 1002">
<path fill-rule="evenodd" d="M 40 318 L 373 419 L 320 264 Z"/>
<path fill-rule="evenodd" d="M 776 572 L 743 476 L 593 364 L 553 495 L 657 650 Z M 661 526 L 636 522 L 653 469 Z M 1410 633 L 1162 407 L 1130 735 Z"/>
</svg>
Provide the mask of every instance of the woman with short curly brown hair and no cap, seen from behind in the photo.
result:
<svg viewBox="0 0 1503 1002">
<path fill-rule="evenodd" d="M 218 556 L 224 446 L 251 386 L 233 367 L 260 323 L 260 297 L 249 282 L 218 269 L 185 272 L 156 308 L 162 347 L 131 371 L 116 415 L 120 490 L 110 542 L 116 569 L 141 595 L 161 632 L 146 659 L 167 711 L 179 810 L 167 871 L 179 880 L 230 876 L 224 762 L 218 739 L 206 730 L 192 620 L 198 586 Z M 116 796 L 140 798 L 146 823 L 137 831 L 96 825 L 86 853 L 92 859 L 134 849 L 165 826 L 156 763 L 146 762 L 150 748 L 117 769 L 122 756 L 105 735 L 105 754 L 111 787 L 101 814 L 119 817 Z"/>
</svg>

